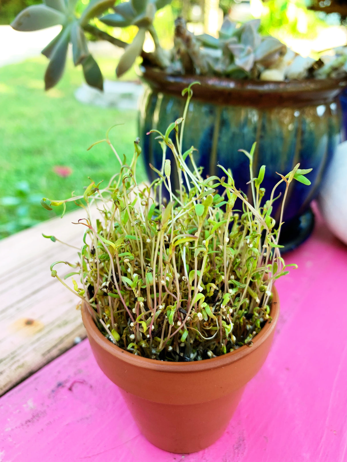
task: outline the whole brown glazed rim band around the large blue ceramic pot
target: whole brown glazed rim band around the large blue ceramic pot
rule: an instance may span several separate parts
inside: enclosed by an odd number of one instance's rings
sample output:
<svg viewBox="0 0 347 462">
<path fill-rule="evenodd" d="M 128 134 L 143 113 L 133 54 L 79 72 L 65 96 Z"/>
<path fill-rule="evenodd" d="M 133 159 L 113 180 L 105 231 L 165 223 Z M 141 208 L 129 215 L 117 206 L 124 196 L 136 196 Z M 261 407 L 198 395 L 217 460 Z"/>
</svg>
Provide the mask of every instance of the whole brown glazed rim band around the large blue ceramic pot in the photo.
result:
<svg viewBox="0 0 347 462">
<path fill-rule="evenodd" d="M 152 67 L 141 67 L 142 79 L 153 93 L 182 98 L 181 91 L 194 81 L 194 99 L 218 106 L 248 106 L 257 109 L 300 108 L 330 104 L 347 85 L 344 79 L 304 79 L 271 82 L 227 77 L 170 75 Z"/>
</svg>

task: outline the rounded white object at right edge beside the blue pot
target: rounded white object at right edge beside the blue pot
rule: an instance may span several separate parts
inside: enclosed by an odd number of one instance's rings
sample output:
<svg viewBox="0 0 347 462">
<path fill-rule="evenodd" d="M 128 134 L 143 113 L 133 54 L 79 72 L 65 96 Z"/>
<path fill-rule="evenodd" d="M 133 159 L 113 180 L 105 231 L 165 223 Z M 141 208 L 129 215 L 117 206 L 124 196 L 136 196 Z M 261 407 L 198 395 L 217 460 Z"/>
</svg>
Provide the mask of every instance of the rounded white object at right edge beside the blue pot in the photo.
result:
<svg viewBox="0 0 347 462">
<path fill-rule="evenodd" d="M 319 205 L 330 231 L 347 244 L 347 141 L 336 148 L 322 185 Z"/>
</svg>

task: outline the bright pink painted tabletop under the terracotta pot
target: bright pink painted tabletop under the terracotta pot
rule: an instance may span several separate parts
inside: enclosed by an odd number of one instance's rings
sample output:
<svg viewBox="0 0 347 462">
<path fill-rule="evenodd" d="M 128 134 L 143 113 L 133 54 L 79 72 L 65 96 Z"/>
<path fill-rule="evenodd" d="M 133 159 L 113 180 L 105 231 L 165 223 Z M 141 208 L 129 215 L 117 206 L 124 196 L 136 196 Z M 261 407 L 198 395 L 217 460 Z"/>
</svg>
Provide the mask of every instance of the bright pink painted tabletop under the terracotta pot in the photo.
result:
<svg viewBox="0 0 347 462">
<path fill-rule="evenodd" d="M 0 461 L 347 461 L 347 247 L 319 222 L 286 262 L 272 350 L 210 448 L 148 443 L 83 340 L 0 398 Z"/>
</svg>

